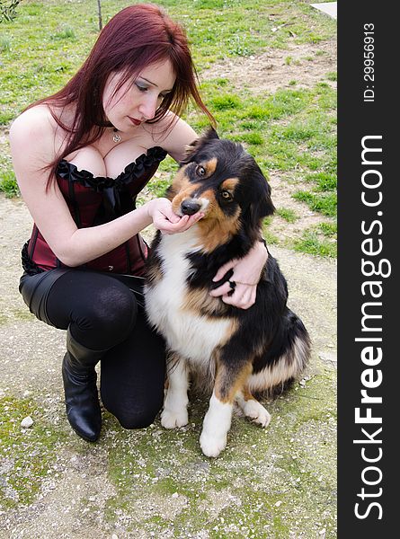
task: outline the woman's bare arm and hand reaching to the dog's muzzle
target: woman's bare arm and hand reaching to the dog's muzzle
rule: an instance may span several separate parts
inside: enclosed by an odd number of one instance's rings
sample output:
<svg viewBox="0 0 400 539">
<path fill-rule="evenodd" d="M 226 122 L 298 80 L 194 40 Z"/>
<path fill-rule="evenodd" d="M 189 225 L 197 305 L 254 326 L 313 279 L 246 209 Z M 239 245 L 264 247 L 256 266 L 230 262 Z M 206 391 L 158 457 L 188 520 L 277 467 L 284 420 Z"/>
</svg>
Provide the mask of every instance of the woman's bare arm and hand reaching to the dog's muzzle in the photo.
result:
<svg viewBox="0 0 400 539">
<path fill-rule="evenodd" d="M 24 199 L 50 249 L 67 266 L 79 266 L 110 252 L 152 222 L 166 234 L 189 228 L 197 216 L 176 216 L 171 203 L 155 199 L 125 216 L 90 228 L 77 228 L 54 181 L 46 190 L 50 163 L 58 151 L 56 122 L 45 107 L 26 110 L 13 122 L 13 167 Z"/>
</svg>

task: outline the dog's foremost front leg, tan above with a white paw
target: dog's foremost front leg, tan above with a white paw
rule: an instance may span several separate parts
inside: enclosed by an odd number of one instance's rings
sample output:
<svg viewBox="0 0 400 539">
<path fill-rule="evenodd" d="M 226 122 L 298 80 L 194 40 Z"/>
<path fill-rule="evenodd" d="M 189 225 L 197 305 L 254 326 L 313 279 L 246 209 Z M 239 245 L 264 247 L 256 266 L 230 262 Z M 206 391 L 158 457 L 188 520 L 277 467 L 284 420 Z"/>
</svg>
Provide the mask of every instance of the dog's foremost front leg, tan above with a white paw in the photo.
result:
<svg viewBox="0 0 400 539">
<path fill-rule="evenodd" d="M 218 456 L 227 446 L 236 393 L 242 389 L 251 368 L 248 364 L 238 369 L 218 363 L 214 391 L 200 435 L 200 447 L 204 455 Z"/>
</svg>

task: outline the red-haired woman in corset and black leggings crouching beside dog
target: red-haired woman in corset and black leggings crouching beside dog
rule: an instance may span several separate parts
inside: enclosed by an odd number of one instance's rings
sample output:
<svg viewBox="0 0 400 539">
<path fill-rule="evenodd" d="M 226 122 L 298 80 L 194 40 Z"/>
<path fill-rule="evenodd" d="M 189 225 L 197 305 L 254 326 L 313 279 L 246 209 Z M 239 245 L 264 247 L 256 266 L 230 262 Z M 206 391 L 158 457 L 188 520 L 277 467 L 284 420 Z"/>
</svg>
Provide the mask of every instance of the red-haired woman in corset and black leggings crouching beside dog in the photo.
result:
<svg viewBox="0 0 400 539">
<path fill-rule="evenodd" d="M 201 215 L 176 216 L 167 199 L 135 208 L 165 155 L 176 161 L 197 136 L 179 115 L 191 98 L 211 121 L 195 83 L 182 27 L 159 7 L 138 4 L 102 30 L 77 74 L 13 122 L 13 167 L 34 221 L 22 250 L 20 291 L 41 321 L 67 330 L 63 360 L 67 418 L 95 441 L 104 407 L 126 429 L 146 427 L 163 402 L 164 341 L 147 325 L 142 280 L 153 223 L 179 234 Z M 260 243 L 214 296 L 253 305 L 267 252 Z M 249 283 L 244 285 L 243 283 Z"/>
</svg>

